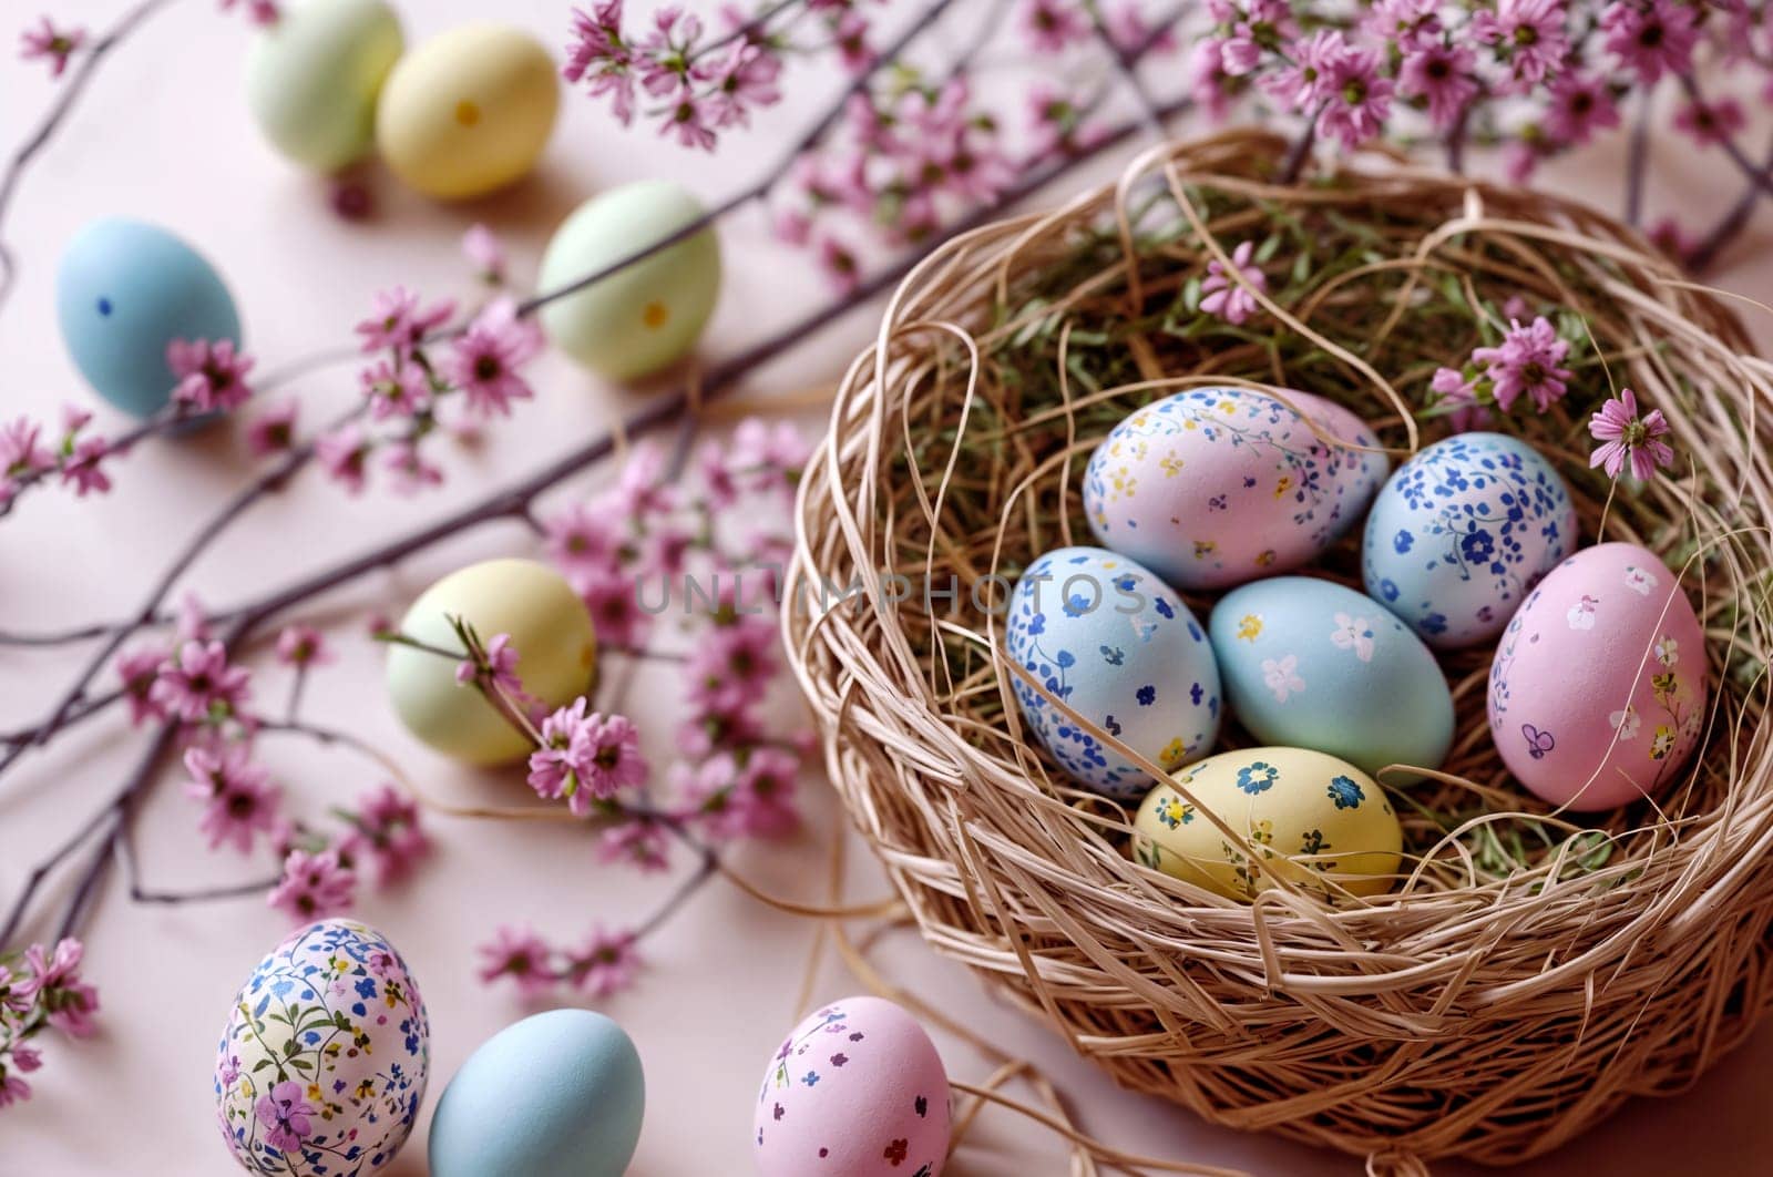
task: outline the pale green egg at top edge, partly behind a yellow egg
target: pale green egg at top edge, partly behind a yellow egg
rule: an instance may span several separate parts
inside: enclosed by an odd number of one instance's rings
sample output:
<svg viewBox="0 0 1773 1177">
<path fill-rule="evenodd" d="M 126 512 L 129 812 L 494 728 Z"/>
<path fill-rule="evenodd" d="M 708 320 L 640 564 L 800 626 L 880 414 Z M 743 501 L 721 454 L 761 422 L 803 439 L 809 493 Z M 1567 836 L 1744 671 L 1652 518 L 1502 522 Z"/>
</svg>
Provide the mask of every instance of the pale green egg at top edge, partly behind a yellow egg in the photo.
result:
<svg viewBox="0 0 1773 1177">
<path fill-rule="evenodd" d="M 385 0 L 284 5 L 246 53 L 246 106 L 284 156 L 337 172 L 376 145 L 376 97 L 402 48 Z"/>
</svg>

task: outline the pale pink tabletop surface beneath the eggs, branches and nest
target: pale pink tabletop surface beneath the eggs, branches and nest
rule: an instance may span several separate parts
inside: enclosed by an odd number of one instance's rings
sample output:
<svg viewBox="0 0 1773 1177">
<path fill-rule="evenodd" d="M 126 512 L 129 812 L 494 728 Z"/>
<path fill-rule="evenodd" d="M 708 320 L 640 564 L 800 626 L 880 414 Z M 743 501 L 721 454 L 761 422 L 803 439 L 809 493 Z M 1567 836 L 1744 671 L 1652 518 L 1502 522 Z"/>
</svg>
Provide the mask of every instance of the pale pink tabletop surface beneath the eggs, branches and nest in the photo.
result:
<svg viewBox="0 0 1773 1177">
<path fill-rule="evenodd" d="M 41 66 L 14 60 L 11 50 L 14 27 L 35 7 L 103 25 L 122 5 L 110 0 L 7 5 L 0 21 L 5 25 L 0 144 L 9 149 L 51 96 Z M 566 0 L 496 5 L 427 0 L 399 7 L 410 41 L 466 16 L 496 12 L 535 30 L 551 46 L 564 39 L 567 12 Z M 649 128 L 624 133 L 603 106 L 569 96 L 541 170 L 516 190 L 466 206 L 433 206 L 381 183 L 379 216 L 369 225 L 349 225 L 326 211 L 319 186 L 275 158 L 248 122 L 238 80 L 246 35 L 245 23 L 218 16 L 213 0 L 174 5 L 105 66 L 27 179 L 5 225 L 23 271 L 0 314 L 5 370 L 0 415 L 53 417 L 64 401 L 89 401 L 57 342 L 51 298 L 60 245 L 89 218 L 126 213 L 197 241 L 216 259 L 241 301 L 248 347 L 261 356 L 261 367 L 277 367 L 349 339 L 351 323 L 379 287 L 408 282 L 427 292 L 466 294 L 466 268 L 456 241 L 473 220 L 486 220 L 505 236 L 514 271 L 527 280 L 551 225 L 601 188 L 672 175 L 704 199 L 718 199 L 771 167 L 778 147 L 840 85 L 823 67 L 794 69 L 787 78 L 789 101 L 768 112 L 752 133 L 734 135 L 716 165 L 658 140 Z M 1012 43 L 996 53 L 1012 55 Z M 1174 85 L 1179 66 L 1160 69 L 1167 71 L 1165 87 Z M 1759 135 L 1746 142 L 1759 142 Z M 1553 183 L 1592 191 L 1612 206 L 1619 149 L 1617 142 L 1605 145 Z M 1688 149 L 1658 142 L 1652 209 L 1672 209 L 1688 223 L 1704 225 L 1738 191 L 1739 181 L 1722 160 L 1693 160 Z M 732 353 L 823 296 L 810 262 L 775 246 L 757 209 L 730 218 L 722 238 L 729 278 L 706 339 L 709 356 Z M 1773 298 L 1766 248 L 1762 222 L 1761 234 L 1725 259 L 1716 280 Z M 791 394 L 833 381 L 869 330 L 865 312 L 849 316 L 754 378 L 746 392 Z M 564 450 L 569 440 L 606 427 L 644 397 L 605 388 L 558 356 L 539 362 L 535 383 L 541 399 L 523 406 L 511 427 L 495 431 L 484 450 L 457 459 L 441 495 L 397 500 L 372 493 L 346 500 L 330 486 L 303 480 L 213 550 L 190 585 L 211 604 L 232 604 L 514 479 Z M 300 394 L 305 404 L 312 402 L 307 418 L 317 420 L 353 395 L 351 369 L 310 378 Z M 101 424 L 115 429 L 121 422 L 101 409 Z M 105 502 L 74 505 L 60 493 L 32 498 L 0 528 L 0 622 L 51 627 L 131 608 L 147 569 L 158 567 L 248 468 L 236 445 L 215 436 L 142 450 L 119 464 L 117 491 Z M 585 486 L 590 482 L 578 489 Z M 557 502 L 560 496 L 544 505 Z M 486 528 L 310 608 L 305 617 L 342 626 L 337 638 L 342 658 L 312 684 L 309 718 L 363 734 L 441 796 L 527 798 L 512 776 L 465 771 L 415 744 L 385 705 L 379 651 L 358 640 L 369 610 L 397 612 L 433 578 L 463 562 L 527 548 L 516 528 Z M 0 727 L 37 718 L 50 691 L 59 691 L 73 674 L 71 663 L 67 652 L 0 652 Z M 261 675 L 268 695 L 280 684 L 275 670 Z M 652 700 L 635 704 L 635 714 L 645 721 L 668 691 L 649 691 L 642 681 L 633 698 Z M 780 705 L 785 716 L 798 714 L 794 700 L 784 698 Z M 654 723 L 654 730 L 668 725 Z M 0 897 L 16 892 L 41 847 L 66 837 L 103 803 L 140 739 L 110 721 L 96 721 L 0 780 Z M 654 753 L 663 760 L 663 744 Z M 269 759 L 293 803 L 307 814 L 348 801 L 374 782 L 362 762 L 307 744 L 277 746 Z M 768 890 L 816 900 L 823 897 L 830 831 L 839 815 L 830 792 L 810 775 L 803 794 L 808 831 L 784 846 L 746 847 L 734 865 Z M 585 838 L 566 828 L 436 819 L 431 831 L 438 844 L 433 861 L 410 885 L 371 893 L 358 908 L 362 918 L 402 950 L 431 1009 L 433 1094 L 413 1143 L 392 1170 L 406 1175 L 424 1172 L 424 1131 L 436 1092 L 480 1041 L 528 1012 L 509 989 L 488 989 L 473 978 L 473 947 L 502 922 L 527 922 L 550 938 L 573 939 L 592 922 L 640 916 L 670 886 L 670 879 L 638 879 L 598 867 Z M 172 776 L 140 807 L 137 847 L 147 885 L 158 888 L 257 877 L 268 867 L 232 853 L 202 853 L 193 807 L 179 796 Z M 872 860 L 862 853 L 851 854 L 849 876 L 855 900 L 885 890 Z M 28 932 L 48 934 L 66 902 L 66 885 L 67 874 L 57 876 L 44 908 L 50 915 Z M 215 1039 L 236 986 L 284 931 L 282 916 L 257 899 L 131 906 L 113 872 L 89 925 L 89 971 L 103 993 L 103 1030 L 85 1042 L 48 1042 L 46 1067 L 32 1076 L 37 1097 L 0 1113 L 0 1173 L 238 1172 L 213 1120 Z M 633 1033 L 647 1069 L 649 1115 L 635 1173 L 748 1172 L 755 1083 L 782 1033 L 803 1012 L 796 1009 L 796 994 L 814 932 L 814 924 L 768 911 L 716 883 L 649 941 L 644 982 L 603 1005 Z M 995 1002 L 961 966 L 934 955 L 911 932 L 883 939 L 874 959 L 890 978 L 1005 1049 L 1035 1060 L 1066 1094 L 1080 1126 L 1117 1147 L 1259 1173 L 1360 1170 L 1349 1158 L 1232 1133 L 1165 1103 L 1119 1092 L 1060 1039 Z M 826 955 L 812 998 L 860 989 Z M 956 1078 L 980 1081 L 991 1071 L 965 1044 L 940 1033 L 936 1039 Z M 1527 1172 L 1557 1173 L 1578 1165 L 1608 1173 L 1761 1170 L 1773 1150 L 1773 1119 L 1766 1115 L 1773 1094 L 1769 1071 L 1773 1028 L 1762 1028 L 1691 1092 L 1635 1103 Z M 1027 1090 L 1014 1094 L 1028 1099 Z M 1064 1156 L 1060 1142 L 1044 1129 L 993 1110 L 973 1127 L 949 1172 L 1057 1173 L 1066 1172 Z M 1468 1170 L 1449 1163 L 1436 1172 Z"/>
</svg>

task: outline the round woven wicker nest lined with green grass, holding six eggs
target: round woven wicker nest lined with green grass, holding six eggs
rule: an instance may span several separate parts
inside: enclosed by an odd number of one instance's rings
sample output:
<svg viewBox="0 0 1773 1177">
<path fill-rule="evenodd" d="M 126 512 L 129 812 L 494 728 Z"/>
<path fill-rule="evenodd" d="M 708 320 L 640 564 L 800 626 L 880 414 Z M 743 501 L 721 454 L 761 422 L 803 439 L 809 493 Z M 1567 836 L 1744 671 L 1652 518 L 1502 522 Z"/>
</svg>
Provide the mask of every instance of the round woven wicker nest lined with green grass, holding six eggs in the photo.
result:
<svg viewBox="0 0 1773 1177">
<path fill-rule="evenodd" d="M 1773 431 L 1757 417 L 1773 367 L 1608 216 L 1394 167 L 1285 184 L 1282 151 L 1262 133 L 1156 149 L 906 278 L 803 480 L 791 659 L 832 782 L 926 939 L 1122 1085 L 1376 1170 L 1512 1163 L 1629 1095 L 1688 1087 L 1773 994 Z M 1262 314 L 1197 314 L 1207 262 L 1273 236 Z M 1656 805 L 1550 812 L 1491 746 L 1479 647 L 1441 658 L 1459 714 L 1445 771 L 1388 789 L 1410 876 L 1395 893 L 1330 906 L 1278 888 L 1252 906 L 1133 863 L 1129 815 L 1025 737 L 988 576 L 1089 542 L 1090 448 L 1175 388 L 1305 388 L 1399 454 L 1434 440 L 1429 374 L 1495 342 L 1512 296 L 1580 316 L 1592 347 L 1564 404 L 1502 427 L 1558 463 L 1589 541 L 1656 550 L 1700 612 L 1713 704 L 1693 764 Z M 1644 487 L 1587 468 L 1610 381 L 1665 411 L 1681 468 Z M 1356 544 L 1317 573 L 1358 587 Z M 821 588 L 883 574 L 899 588 Z M 911 599 L 890 599 L 894 574 Z M 950 578 L 957 599 L 926 608 L 917 587 Z M 1230 723 L 1220 746 L 1248 743 Z"/>
</svg>

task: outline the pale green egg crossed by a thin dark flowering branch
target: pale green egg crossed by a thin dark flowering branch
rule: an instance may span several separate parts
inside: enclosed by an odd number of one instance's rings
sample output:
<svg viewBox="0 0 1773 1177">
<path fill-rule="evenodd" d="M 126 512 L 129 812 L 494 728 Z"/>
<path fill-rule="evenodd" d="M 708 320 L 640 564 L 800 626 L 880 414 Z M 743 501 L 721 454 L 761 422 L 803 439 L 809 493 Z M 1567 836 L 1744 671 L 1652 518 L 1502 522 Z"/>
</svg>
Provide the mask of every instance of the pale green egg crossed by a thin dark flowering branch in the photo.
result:
<svg viewBox="0 0 1773 1177">
<path fill-rule="evenodd" d="M 537 284 L 557 291 L 599 273 L 706 214 L 681 184 L 645 179 L 578 206 L 543 253 Z M 610 379 L 633 379 L 679 360 L 700 339 L 720 294 L 713 225 L 543 307 L 548 339 Z"/>
</svg>

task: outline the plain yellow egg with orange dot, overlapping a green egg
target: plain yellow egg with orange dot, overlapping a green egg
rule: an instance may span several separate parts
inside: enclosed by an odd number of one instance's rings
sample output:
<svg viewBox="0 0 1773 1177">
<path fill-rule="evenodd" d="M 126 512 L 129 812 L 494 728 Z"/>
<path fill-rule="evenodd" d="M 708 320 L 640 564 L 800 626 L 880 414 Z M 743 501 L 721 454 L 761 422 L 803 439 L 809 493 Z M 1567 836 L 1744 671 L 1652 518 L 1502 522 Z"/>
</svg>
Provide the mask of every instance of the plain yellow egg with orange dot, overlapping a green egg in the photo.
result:
<svg viewBox="0 0 1773 1177">
<path fill-rule="evenodd" d="M 509 25 L 438 34 L 388 74 L 376 145 L 388 168 L 429 197 L 479 197 L 527 175 L 548 145 L 560 83 L 548 50 Z"/>
</svg>

